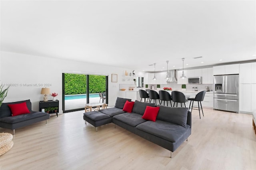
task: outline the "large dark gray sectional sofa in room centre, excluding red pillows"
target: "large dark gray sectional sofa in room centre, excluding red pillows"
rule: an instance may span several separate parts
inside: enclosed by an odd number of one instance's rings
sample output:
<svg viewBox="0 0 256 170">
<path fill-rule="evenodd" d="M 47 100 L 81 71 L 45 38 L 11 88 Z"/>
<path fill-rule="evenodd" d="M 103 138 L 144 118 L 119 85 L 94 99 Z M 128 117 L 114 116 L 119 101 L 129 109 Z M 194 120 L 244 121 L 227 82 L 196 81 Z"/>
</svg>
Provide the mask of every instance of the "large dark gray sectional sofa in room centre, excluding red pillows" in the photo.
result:
<svg viewBox="0 0 256 170">
<path fill-rule="evenodd" d="M 108 116 L 108 123 L 112 119 L 112 123 L 115 125 L 170 150 L 170 157 L 172 158 L 172 152 L 191 134 L 192 118 L 188 108 L 158 105 L 160 109 L 156 121 L 153 122 L 142 119 L 142 115 L 147 106 L 156 107 L 154 103 L 144 103 L 136 100 L 132 113 L 125 113 L 122 108 L 126 100 L 130 99 L 118 97 L 114 108 L 94 111 L 92 113 L 94 115 L 93 119 L 96 120 L 97 114 L 105 114 Z M 95 122 L 88 114 L 90 112 L 84 113 L 84 120 L 89 123 L 90 121 Z"/>
</svg>

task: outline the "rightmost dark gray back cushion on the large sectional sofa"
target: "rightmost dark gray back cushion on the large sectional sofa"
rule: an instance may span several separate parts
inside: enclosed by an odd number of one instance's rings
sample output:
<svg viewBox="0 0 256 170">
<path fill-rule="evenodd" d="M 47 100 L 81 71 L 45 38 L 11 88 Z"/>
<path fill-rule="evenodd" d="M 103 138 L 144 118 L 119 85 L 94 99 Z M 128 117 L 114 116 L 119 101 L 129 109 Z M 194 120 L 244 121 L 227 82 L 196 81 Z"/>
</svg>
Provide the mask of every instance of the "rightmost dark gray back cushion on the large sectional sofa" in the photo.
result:
<svg viewBox="0 0 256 170">
<path fill-rule="evenodd" d="M 156 119 L 186 127 L 188 119 L 188 108 L 166 107 L 162 105 L 158 106 L 160 107 L 160 109 Z"/>
</svg>

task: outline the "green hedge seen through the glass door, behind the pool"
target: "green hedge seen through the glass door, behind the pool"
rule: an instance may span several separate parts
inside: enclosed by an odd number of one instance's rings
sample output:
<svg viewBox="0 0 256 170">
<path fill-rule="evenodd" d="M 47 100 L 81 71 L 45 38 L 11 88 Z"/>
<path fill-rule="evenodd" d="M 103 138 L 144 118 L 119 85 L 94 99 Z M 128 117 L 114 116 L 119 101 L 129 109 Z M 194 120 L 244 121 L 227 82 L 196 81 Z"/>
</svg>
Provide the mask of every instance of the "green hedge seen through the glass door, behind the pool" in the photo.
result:
<svg viewBox="0 0 256 170">
<path fill-rule="evenodd" d="M 106 91 L 106 78 L 103 75 L 89 75 L 89 92 Z M 65 95 L 86 94 L 86 75 L 65 73 Z"/>
</svg>

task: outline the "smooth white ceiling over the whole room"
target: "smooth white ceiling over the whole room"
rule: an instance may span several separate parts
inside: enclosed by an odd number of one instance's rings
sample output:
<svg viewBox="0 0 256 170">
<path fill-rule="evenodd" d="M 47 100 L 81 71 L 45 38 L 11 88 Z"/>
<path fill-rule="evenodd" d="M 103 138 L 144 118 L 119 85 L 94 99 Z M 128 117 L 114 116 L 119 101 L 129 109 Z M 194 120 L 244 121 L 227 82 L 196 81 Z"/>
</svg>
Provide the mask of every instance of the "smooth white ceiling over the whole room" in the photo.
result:
<svg viewBox="0 0 256 170">
<path fill-rule="evenodd" d="M 181 58 L 184 68 L 256 60 L 255 0 L 1 0 L 0 8 L 1 51 L 145 71 L 166 70 L 167 60 L 180 69 Z"/>
</svg>

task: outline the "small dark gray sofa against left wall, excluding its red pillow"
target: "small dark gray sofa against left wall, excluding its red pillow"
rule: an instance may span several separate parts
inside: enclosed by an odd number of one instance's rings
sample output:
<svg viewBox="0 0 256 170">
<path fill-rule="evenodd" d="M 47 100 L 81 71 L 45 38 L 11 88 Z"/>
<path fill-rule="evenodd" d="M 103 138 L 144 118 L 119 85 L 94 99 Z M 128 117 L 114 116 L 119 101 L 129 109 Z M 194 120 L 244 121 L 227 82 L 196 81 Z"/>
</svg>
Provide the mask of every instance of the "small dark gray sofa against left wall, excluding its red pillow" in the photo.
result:
<svg viewBox="0 0 256 170">
<path fill-rule="evenodd" d="M 17 104 L 17 103 L 24 103 L 28 107 L 30 113 L 12 116 L 12 112 L 8 105 L 10 104 Z M 30 100 L 25 101 L 17 101 L 11 103 L 2 103 L 0 107 L 0 127 L 1 128 L 8 128 L 13 130 L 13 134 L 15 134 L 15 129 L 20 127 L 25 127 L 31 125 L 33 123 L 37 123 L 40 121 L 46 121 L 50 119 L 50 115 L 48 113 L 32 111 L 32 106 Z"/>
</svg>

